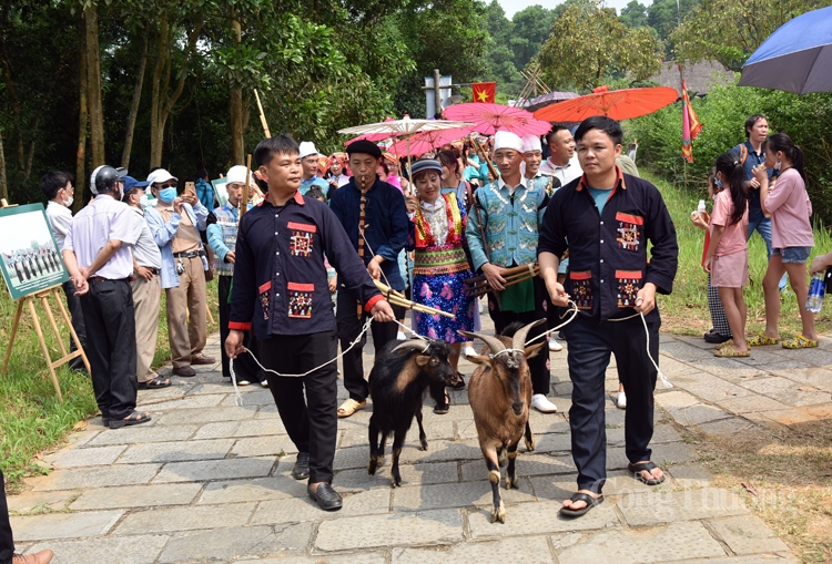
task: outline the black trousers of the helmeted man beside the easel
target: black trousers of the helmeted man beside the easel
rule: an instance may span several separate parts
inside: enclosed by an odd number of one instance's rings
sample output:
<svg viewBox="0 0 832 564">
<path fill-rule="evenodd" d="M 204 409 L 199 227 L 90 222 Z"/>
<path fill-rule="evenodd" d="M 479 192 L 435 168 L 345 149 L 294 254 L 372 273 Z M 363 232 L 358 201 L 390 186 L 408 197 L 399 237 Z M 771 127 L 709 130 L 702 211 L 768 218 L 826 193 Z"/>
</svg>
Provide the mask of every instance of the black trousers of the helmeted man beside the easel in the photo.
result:
<svg viewBox="0 0 832 564">
<path fill-rule="evenodd" d="M 87 357 L 101 416 L 124 419 L 135 409 L 135 318 L 126 278 L 90 284 L 81 296 Z"/>
</svg>

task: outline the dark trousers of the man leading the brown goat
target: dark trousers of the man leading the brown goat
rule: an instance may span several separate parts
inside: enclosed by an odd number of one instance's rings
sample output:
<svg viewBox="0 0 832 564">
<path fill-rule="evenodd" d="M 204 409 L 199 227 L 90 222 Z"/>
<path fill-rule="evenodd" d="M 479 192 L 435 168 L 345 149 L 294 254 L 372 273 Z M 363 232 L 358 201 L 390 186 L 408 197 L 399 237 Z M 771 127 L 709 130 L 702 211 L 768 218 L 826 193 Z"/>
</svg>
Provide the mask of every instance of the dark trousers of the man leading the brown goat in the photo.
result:
<svg viewBox="0 0 832 564">
<path fill-rule="evenodd" d="M 657 316 L 648 321 L 650 356 L 659 361 Z M 600 493 L 607 478 L 605 373 L 610 352 L 616 355 L 618 376 L 627 391 L 625 450 L 630 462 L 650 460 L 653 437 L 653 390 L 658 372 L 647 356 L 647 336 L 640 317 L 598 325 L 578 315 L 564 328 L 569 345 L 569 378 L 572 407 L 569 428 L 572 459 L 578 468 L 578 489 Z"/>
</svg>

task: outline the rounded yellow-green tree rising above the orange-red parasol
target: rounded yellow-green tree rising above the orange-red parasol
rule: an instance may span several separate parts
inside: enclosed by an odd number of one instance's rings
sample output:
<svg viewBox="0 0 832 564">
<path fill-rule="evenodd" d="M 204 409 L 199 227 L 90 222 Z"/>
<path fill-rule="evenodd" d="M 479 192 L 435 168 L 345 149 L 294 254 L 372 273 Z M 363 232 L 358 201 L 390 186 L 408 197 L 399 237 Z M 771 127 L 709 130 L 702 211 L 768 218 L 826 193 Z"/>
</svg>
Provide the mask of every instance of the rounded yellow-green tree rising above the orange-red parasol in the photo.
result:
<svg viewBox="0 0 832 564">
<path fill-rule="evenodd" d="M 647 79 L 661 66 L 661 49 L 649 29 L 628 28 L 602 0 L 581 0 L 555 21 L 538 59 L 549 86 L 589 90 L 616 74 Z"/>
</svg>

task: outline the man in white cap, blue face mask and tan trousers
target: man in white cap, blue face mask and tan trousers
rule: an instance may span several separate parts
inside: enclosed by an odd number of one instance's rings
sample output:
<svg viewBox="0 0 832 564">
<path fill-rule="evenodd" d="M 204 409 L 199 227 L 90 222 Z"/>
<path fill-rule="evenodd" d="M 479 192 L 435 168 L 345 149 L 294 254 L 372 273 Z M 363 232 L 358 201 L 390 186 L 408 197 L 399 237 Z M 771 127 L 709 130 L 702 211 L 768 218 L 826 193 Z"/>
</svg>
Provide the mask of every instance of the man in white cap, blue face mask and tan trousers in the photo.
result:
<svg viewBox="0 0 832 564">
<path fill-rule="evenodd" d="M 196 376 L 191 365 L 215 362 L 202 353 L 207 340 L 207 259 L 200 230 L 206 227 L 207 209 L 192 188 L 177 196 L 177 182 L 164 168 L 150 173 L 148 186 L 156 197 L 156 205 L 148 207 L 144 217 L 162 252 L 162 288 L 168 296 L 168 336 L 173 373 L 190 378 Z"/>
</svg>

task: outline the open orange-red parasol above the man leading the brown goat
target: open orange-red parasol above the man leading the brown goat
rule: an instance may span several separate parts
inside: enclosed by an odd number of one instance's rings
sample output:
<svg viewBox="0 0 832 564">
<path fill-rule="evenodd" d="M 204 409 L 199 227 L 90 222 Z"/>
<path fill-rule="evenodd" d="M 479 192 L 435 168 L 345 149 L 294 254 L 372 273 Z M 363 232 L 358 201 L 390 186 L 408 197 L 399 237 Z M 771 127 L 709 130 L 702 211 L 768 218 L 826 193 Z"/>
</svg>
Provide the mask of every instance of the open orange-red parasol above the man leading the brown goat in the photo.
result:
<svg viewBox="0 0 832 564">
<path fill-rule="evenodd" d="M 593 115 L 613 120 L 632 120 L 653 113 L 679 99 L 670 86 L 609 90 L 598 86 L 591 94 L 575 98 L 535 112 L 535 117 L 547 122 L 582 122 Z"/>
</svg>

